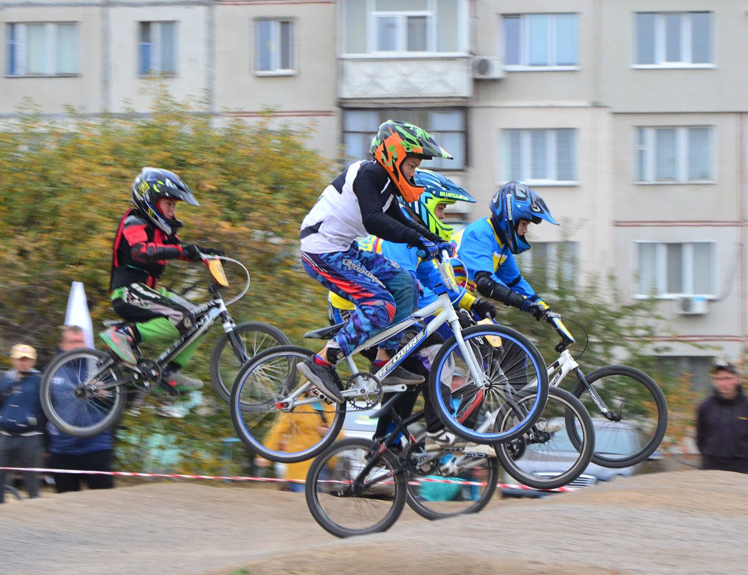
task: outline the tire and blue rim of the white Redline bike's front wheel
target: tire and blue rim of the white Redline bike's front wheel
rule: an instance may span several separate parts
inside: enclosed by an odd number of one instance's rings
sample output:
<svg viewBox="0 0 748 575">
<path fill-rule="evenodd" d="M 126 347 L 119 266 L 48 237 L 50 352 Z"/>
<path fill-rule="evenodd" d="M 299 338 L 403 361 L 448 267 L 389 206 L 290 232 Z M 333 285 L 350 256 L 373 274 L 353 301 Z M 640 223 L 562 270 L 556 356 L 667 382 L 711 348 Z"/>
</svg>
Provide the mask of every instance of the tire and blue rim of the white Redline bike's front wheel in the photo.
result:
<svg viewBox="0 0 748 575">
<path fill-rule="evenodd" d="M 548 399 L 548 372 L 545 368 L 545 361 L 538 351 L 538 348 L 536 348 L 530 339 L 527 339 L 527 337 L 519 333 L 517 330 L 506 328 L 501 325 L 474 325 L 462 330 L 462 337 L 466 342 L 469 342 L 473 338 L 480 338 L 482 336 L 497 336 L 502 340 L 502 342 L 509 342 L 510 345 L 517 346 L 517 348 L 526 354 L 526 357 L 529 358 L 532 363 L 531 374 L 529 376 L 525 374 L 523 378 L 528 381 L 533 381 L 534 379 L 536 387 L 533 387 L 533 389 L 537 389 L 538 394 L 533 408 L 529 413 L 527 413 L 527 416 L 524 417 L 519 425 L 506 431 L 473 431 L 472 429 L 465 427 L 465 425 L 462 425 L 462 423 L 456 419 L 456 415 L 453 413 L 451 405 L 448 406 L 444 403 L 444 398 L 440 393 L 439 386 L 441 385 L 442 371 L 445 368 L 445 364 L 450 361 L 448 355 L 457 349 L 457 339 L 455 336 L 447 339 L 441 348 L 439 348 L 432 363 L 431 372 L 429 373 L 428 385 L 432 408 L 435 413 L 437 413 L 439 419 L 441 419 L 441 422 L 444 423 L 445 427 L 465 440 L 482 443 L 483 445 L 491 445 L 493 443 L 501 443 L 503 441 L 515 439 L 515 437 L 520 437 L 525 431 L 532 427 L 533 423 L 535 423 L 541 416 L 543 408 L 545 407 L 545 401 Z M 480 340 L 478 339 L 477 341 Z M 516 365 L 516 363 L 513 365 Z M 498 375 L 503 377 L 501 373 Z M 465 377 L 467 378 L 468 376 Z M 493 386 L 494 384 L 491 383 L 491 388 L 493 388 Z M 499 384 L 496 384 L 496 389 L 498 389 L 498 387 Z M 491 425 L 491 429 L 493 429 L 493 425 Z"/>
</svg>

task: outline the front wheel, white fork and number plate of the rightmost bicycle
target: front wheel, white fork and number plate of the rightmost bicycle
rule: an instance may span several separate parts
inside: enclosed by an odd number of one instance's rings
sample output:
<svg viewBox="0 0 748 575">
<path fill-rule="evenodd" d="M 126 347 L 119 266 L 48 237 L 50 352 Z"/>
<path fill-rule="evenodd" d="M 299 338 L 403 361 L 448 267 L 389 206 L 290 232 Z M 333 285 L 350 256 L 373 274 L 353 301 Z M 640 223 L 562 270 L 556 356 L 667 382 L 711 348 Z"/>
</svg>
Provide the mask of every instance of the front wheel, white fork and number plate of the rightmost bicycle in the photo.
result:
<svg viewBox="0 0 748 575">
<path fill-rule="evenodd" d="M 555 314 L 548 318 L 548 323 L 561 337 L 561 341 L 555 347 L 560 357 L 548 366 L 551 387 L 557 387 L 569 372 L 574 372 L 578 381 L 571 390 L 571 395 L 581 399 L 586 393 L 589 397 L 583 404 L 589 413 L 595 413 L 598 420 L 603 419 L 607 422 L 607 425 L 596 426 L 598 441 L 595 453 L 592 455 L 592 463 L 601 467 L 621 469 L 649 458 L 660 446 L 667 429 L 667 401 L 660 387 L 645 372 L 630 366 L 604 366 L 584 375 L 579 364 L 568 351 L 568 348 L 576 341 L 574 336 L 563 325 L 561 318 Z M 625 449 L 625 446 L 610 445 L 609 438 L 605 437 L 606 430 L 625 425 L 633 427 L 640 435 L 651 436 L 641 449 L 629 453 L 621 451 Z M 568 421 L 566 428 L 571 443 L 578 448 L 581 441 L 577 428 L 574 425 L 568 425 Z M 636 447 L 632 446 L 632 449 Z M 619 452 L 607 451 L 607 449 L 619 449 Z"/>
</svg>

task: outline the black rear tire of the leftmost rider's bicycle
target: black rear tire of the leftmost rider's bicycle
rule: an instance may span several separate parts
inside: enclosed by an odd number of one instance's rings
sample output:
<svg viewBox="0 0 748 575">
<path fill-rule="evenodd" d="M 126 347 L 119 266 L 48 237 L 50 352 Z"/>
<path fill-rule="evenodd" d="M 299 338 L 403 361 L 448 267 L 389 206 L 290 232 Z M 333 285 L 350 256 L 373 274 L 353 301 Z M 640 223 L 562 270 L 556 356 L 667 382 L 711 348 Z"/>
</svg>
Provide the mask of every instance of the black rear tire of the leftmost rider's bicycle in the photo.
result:
<svg viewBox="0 0 748 575">
<path fill-rule="evenodd" d="M 54 380 L 55 375 L 61 367 L 73 360 L 82 360 L 84 357 L 96 358 L 97 363 L 104 360 L 111 360 L 113 364 L 111 366 L 110 372 L 112 373 L 112 375 L 114 375 L 115 380 L 119 380 L 122 378 L 122 370 L 119 367 L 119 361 L 111 357 L 110 354 L 106 354 L 103 351 L 89 348 L 73 349 L 71 351 L 66 351 L 63 354 L 59 354 L 52 360 L 51 363 L 49 363 L 49 366 L 47 366 L 47 368 L 44 370 L 40 385 L 40 400 L 42 409 L 49 422 L 51 422 L 52 425 L 54 425 L 63 433 L 72 435 L 73 437 L 81 438 L 93 437 L 94 435 L 98 435 L 103 433 L 104 431 L 108 431 L 109 429 L 113 428 L 114 425 L 117 425 L 117 422 L 120 420 L 120 417 L 122 416 L 122 413 L 125 409 L 125 403 L 127 399 L 125 384 L 117 385 L 117 387 L 114 387 L 113 390 L 114 400 L 111 410 L 108 411 L 108 413 L 103 416 L 102 419 L 99 419 L 97 422 L 94 422 L 91 425 L 72 425 L 70 422 L 67 422 L 55 408 L 55 402 L 53 401 L 52 393 L 52 381 Z M 82 382 L 78 383 L 80 384 Z M 60 390 L 57 390 L 57 392 L 60 393 Z M 68 399 L 68 402 L 75 401 L 76 399 L 79 398 L 71 397 Z M 100 403 L 101 402 L 99 401 L 99 404 Z M 91 402 L 92 408 L 94 405 L 95 404 Z M 81 416 L 81 414 L 82 412 L 80 410 L 76 411 L 76 415 Z"/>
</svg>

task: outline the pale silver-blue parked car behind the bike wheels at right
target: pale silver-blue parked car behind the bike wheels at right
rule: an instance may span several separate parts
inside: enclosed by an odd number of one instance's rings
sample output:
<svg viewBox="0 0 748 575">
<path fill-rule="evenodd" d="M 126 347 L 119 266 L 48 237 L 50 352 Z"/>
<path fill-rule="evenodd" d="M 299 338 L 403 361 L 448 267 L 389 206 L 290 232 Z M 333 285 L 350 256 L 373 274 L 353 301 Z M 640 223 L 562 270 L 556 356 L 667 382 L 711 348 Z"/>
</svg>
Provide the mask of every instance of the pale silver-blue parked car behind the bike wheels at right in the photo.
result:
<svg viewBox="0 0 748 575">
<path fill-rule="evenodd" d="M 631 425 L 623 422 L 613 423 L 602 420 L 595 420 L 594 424 L 595 452 L 603 452 L 606 455 L 625 455 L 640 449 L 642 440 L 639 434 L 637 434 L 636 429 L 631 427 Z M 527 446 L 527 451 L 518 461 L 518 464 L 526 473 L 532 473 L 539 477 L 551 477 L 560 475 L 560 473 L 567 470 L 568 465 L 576 458 L 577 452 L 566 434 L 565 427 L 562 425 L 561 431 L 557 431 L 557 436 L 554 437 L 551 449 L 545 446 L 541 451 L 535 452 L 532 446 Z M 661 456 L 657 452 L 654 452 L 649 456 L 648 461 L 660 458 Z M 630 477 L 635 473 L 640 473 L 643 465 L 641 463 L 631 467 L 623 467 L 622 469 L 609 469 L 590 463 L 582 475 L 574 479 L 567 487 L 588 488 L 598 482 L 609 482 L 616 478 Z M 512 479 L 506 473 L 503 474 L 503 481 L 509 485 L 516 485 L 517 483 L 515 479 Z M 504 497 L 542 497 L 558 492 L 527 488 L 502 488 L 501 493 Z"/>
</svg>

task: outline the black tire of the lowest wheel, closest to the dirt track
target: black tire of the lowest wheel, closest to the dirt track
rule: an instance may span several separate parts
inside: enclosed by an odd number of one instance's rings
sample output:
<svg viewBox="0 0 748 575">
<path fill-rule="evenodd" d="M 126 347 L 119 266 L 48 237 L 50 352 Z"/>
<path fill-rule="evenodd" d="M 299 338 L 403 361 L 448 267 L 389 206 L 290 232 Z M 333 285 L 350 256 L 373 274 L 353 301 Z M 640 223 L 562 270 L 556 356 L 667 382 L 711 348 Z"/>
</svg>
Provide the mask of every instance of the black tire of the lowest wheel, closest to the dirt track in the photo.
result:
<svg viewBox="0 0 748 575">
<path fill-rule="evenodd" d="M 392 485 L 394 489 L 392 505 L 390 509 L 384 514 L 384 516 L 375 523 L 358 529 L 352 529 L 351 527 L 340 525 L 340 523 L 337 523 L 335 520 L 333 520 L 328 512 L 325 511 L 325 505 L 322 505 L 319 496 L 320 493 L 324 493 L 325 495 L 327 495 L 331 488 L 323 489 L 319 488 L 319 485 L 320 482 L 324 482 L 327 485 L 331 485 L 332 483 L 334 483 L 329 479 L 322 479 L 321 476 L 323 471 L 325 470 L 325 465 L 328 464 L 328 461 L 330 461 L 335 454 L 343 452 L 343 450 L 345 449 L 351 449 L 352 447 L 356 446 L 361 448 L 361 450 L 370 452 L 370 450 L 375 446 L 375 443 L 372 440 L 360 439 L 358 437 L 352 437 L 350 439 L 344 439 L 335 442 L 330 447 L 330 449 L 322 453 L 322 455 L 317 456 L 312 462 L 312 465 L 309 468 L 309 472 L 307 473 L 306 489 L 304 490 L 307 499 L 307 507 L 309 508 L 312 517 L 314 517 L 314 520 L 319 523 L 319 526 L 321 526 L 322 529 L 325 529 L 325 531 L 340 538 L 387 531 L 387 529 L 390 529 L 390 527 L 393 526 L 398 517 L 400 517 L 400 514 L 402 514 L 403 508 L 405 508 L 405 499 L 407 493 L 407 481 L 405 473 L 395 473 L 392 476 Z M 399 462 L 396 460 L 396 458 L 393 457 L 393 455 L 390 455 L 390 452 L 385 451 L 377 453 L 375 457 L 384 459 L 385 464 L 390 468 L 390 470 L 396 470 L 399 467 Z M 341 488 L 343 488 L 344 490 L 346 489 L 345 483 L 345 481 L 341 481 Z M 344 492 L 338 495 L 338 497 L 340 498 L 342 498 L 343 496 Z M 361 496 L 361 499 L 367 498 Z M 373 499 L 373 496 L 370 496 L 369 499 Z M 384 504 L 381 506 L 384 506 Z M 347 514 L 347 517 L 353 519 L 352 512 Z"/>
</svg>

